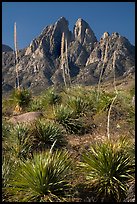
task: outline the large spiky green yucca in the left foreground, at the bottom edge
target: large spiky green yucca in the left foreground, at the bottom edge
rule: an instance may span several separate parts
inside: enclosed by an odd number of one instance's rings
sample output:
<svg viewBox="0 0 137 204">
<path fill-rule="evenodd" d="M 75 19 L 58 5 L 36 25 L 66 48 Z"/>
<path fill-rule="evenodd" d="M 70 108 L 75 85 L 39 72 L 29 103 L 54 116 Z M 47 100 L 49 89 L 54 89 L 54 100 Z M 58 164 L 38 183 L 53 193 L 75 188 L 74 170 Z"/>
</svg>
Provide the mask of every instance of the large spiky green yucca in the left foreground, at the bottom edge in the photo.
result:
<svg viewBox="0 0 137 204">
<path fill-rule="evenodd" d="M 56 150 L 33 155 L 21 162 L 10 179 L 10 201 L 64 201 L 68 190 L 72 160 L 67 151 Z"/>
</svg>

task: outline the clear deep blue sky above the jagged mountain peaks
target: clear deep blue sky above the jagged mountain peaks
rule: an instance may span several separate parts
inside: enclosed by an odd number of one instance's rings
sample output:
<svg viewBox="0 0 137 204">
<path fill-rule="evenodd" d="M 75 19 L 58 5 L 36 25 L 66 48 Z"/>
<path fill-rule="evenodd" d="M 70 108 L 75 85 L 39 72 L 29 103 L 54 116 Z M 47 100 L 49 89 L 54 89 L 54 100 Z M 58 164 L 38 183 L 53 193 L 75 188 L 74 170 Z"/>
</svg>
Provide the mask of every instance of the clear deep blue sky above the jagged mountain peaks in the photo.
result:
<svg viewBox="0 0 137 204">
<path fill-rule="evenodd" d="M 2 43 L 14 48 L 14 22 L 19 49 L 64 16 L 72 31 L 84 19 L 99 40 L 105 31 L 118 32 L 135 44 L 135 2 L 2 2 Z"/>
</svg>

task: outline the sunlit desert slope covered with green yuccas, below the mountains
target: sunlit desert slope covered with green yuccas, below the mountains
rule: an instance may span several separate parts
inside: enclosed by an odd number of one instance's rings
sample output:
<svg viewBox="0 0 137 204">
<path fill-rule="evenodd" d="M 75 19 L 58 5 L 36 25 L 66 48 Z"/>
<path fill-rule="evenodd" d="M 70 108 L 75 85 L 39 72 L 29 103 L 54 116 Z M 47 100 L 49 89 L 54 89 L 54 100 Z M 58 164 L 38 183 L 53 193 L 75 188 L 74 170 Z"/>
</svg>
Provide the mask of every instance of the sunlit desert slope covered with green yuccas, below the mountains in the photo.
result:
<svg viewBox="0 0 137 204">
<path fill-rule="evenodd" d="M 105 88 L 106 90 L 106 88 Z M 109 201 L 126 199 L 134 182 L 134 86 L 114 97 L 103 88 L 49 88 L 39 96 L 14 93 L 2 101 L 3 201 Z M 16 110 L 17 105 L 21 109 Z M 42 111 L 33 123 L 13 125 L 13 114 Z"/>
</svg>

